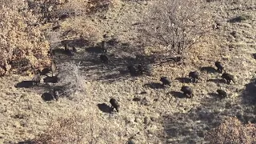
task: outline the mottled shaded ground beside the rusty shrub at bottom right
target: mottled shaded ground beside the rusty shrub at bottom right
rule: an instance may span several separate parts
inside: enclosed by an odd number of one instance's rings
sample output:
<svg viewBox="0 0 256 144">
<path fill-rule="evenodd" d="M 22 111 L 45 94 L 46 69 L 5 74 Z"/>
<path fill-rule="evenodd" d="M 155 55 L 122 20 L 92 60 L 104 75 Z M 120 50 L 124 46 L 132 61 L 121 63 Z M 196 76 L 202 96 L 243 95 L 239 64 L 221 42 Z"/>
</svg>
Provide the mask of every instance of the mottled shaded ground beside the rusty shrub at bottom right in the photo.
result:
<svg viewBox="0 0 256 144">
<path fill-rule="evenodd" d="M 256 122 L 255 111 L 244 111 L 246 106 L 231 104 L 217 97 L 202 100 L 204 104 L 188 113 L 163 115 L 166 143 L 201 143 L 206 132 L 212 130 L 227 117 L 235 117 L 244 123 Z"/>
</svg>

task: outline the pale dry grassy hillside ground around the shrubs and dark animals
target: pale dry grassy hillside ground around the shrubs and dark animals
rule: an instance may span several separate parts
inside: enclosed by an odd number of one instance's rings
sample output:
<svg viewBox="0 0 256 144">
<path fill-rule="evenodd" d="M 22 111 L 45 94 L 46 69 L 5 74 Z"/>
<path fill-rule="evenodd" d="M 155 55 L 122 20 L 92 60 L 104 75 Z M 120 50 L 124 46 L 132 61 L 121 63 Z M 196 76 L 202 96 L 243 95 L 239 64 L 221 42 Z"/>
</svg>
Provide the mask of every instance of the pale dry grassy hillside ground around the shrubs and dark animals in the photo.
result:
<svg viewBox="0 0 256 144">
<path fill-rule="evenodd" d="M 88 18 L 68 18 L 61 22 L 61 29 L 49 34 L 62 34 L 81 22 L 97 26 L 99 35 L 106 34 L 107 40 L 116 38 L 109 45 L 110 63 L 98 62 L 98 53 L 89 46 L 78 47 L 72 58 L 63 54 L 54 56 L 57 66 L 63 62 L 80 62 L 84 91 L 72 98 L 44 102 L 41 95 L 46 86 L 17 88 L 18 82 L 31 77 L 11 75 L 1 78 L 0 83 L 0 142 L 22 142 L 34 138 L 46 130 L 47 122 L 71 114 L 85 116 L 86 138 L 84 143 L 97 139 L 95 143 L 207 143 L 206 131 L 211 130 L 228 116 L 242 122 L 256 122 L 256 2 L 214 1 L 208 2 L 218 29 L 209 38 L 193 46 L 181 63 L 163 58 L 146 62 L 152 67 L 151 75 L 130 77 L 126 64 L 136 62 L 136 27 L 146 2 L 120 2 L 106 14 Z M 250 15 L 242 22 L 228 22 L 239 15 Z M 44 28 L 48 30 L 48 27 Z M 99 38 L 101 42 L 103 38 Z M 63 48 L 62 38 L 50 39 L 54 48 Z M 134 53 L 127 50 L 134 49 Z M 213 71 L 215 61 L 221 61 L 226 71 L 234 75 L 235 83 L 227 85 L 221 75 Z M 206 68 L 208 66 L 208 68 Z M 204 68 L 205 67 L 205 68 Z M 192 70 L 200 72 L 197 83 L 186 82 Z M 172 81 L 170 88 L 158 86 L 161 76 Z M 181 98 L 182 86 L 190 86 L 194 98 Z M 226 90 L 228 97 L 218 99 L 216 90 Z M 141 98 L 134 102 L 133 98 Z M 98 104 L 110 105 L 110 98 L 120 103 L 118 114 L 99 110 Z M 89 128 L 93 127 L 93 130 Z"/>
</svg>

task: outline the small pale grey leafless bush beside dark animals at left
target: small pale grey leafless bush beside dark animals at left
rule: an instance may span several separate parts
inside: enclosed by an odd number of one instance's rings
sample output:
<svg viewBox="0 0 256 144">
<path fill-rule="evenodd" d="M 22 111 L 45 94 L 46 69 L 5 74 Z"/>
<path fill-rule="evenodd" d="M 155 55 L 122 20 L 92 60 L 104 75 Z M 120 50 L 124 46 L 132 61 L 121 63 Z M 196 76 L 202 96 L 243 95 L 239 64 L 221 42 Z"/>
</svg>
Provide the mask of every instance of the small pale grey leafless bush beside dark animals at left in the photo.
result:
<svg viewBox="0 0 256 144">
<path fill-rule="evenodd" d="M 66 95 L 74 95 L 85 90 L 85 78 L 81 74 L 79 63 L 64 62 L 58 66 L 59 84 L 64 86 Z"/>
</svg>

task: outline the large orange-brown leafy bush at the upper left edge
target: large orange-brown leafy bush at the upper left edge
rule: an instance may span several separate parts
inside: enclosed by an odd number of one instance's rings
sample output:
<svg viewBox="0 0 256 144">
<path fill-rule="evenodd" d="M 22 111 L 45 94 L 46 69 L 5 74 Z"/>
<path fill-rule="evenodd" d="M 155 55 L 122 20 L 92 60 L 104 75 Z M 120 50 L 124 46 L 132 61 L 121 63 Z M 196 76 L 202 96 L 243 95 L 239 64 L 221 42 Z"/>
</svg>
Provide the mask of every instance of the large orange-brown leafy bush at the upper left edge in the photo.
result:
<svg viewBox="0 0 256 144">
<path fill-rule="evenodd" d="M 23 6 L 21 3 L 10 2 Z M 37 18 L 21 6 L 5 4 L 0 11 L 0 75 L 26 74 L 50 64 L 49 42 L 38 26 L 31 26 Z"/>
</svg>

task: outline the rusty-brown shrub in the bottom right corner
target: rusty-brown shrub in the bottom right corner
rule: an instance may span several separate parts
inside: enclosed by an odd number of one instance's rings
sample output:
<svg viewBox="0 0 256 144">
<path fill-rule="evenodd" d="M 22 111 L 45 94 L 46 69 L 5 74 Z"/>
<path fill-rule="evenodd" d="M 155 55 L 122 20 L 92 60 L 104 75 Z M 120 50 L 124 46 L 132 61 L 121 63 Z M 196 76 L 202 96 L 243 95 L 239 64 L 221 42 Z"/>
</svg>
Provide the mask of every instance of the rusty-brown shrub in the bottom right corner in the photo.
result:
<svg viewBox="0 0 256 144">
<path fill-rule="evenodd" d="M 243 125 L 237 118 L 227 118 L 220 126 L 210 130 L 207 140 L 210 143 L 244 143 L 250 144 L 256 142 L 256 125 L 249 123 Z"/>
</svg>

